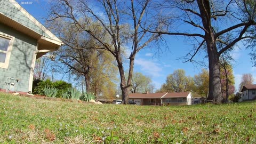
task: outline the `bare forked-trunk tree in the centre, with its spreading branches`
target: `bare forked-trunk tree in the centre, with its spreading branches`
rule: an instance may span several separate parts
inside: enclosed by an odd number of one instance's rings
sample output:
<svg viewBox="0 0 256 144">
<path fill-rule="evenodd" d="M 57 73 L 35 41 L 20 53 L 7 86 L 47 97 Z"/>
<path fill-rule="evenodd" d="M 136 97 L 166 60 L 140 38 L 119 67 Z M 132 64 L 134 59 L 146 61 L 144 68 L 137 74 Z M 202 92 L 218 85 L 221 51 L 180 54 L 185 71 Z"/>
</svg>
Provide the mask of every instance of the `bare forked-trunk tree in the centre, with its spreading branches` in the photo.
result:
<svg viewBox="0 0 256 144">
<path fill-rule="evenodd" d="M 89 34 L 97 41 L 101 49 L 109 51 L 115 57 L 121 78 L 122 99 L 125 104 L 128 102 L 135 56 L 156 38 L 156 34 L 141 29 L 141 25 L 149 25 L 150 22 L 147 18 L 149 17 L 149 4 L 149 0 L 60 0 L 52 2 L 50 9 L 50 21 L 62 19 L 70 22 L 70 25 L 75 25 L 83 33 Z M 101 34 L 94 33 L 94 29 L 88 27 L 93 23 L 98 23 L 98 27 L 102 28 Z M 102 36 L 107 36 L 110 41 Z M 126 47 L 129 50 L 125 50 Z M 123 67 L 122 53 L 124 51 L 131 52 L 128 58 L 129 74 L 127 77 L 125 77 Z"/>
</svg>

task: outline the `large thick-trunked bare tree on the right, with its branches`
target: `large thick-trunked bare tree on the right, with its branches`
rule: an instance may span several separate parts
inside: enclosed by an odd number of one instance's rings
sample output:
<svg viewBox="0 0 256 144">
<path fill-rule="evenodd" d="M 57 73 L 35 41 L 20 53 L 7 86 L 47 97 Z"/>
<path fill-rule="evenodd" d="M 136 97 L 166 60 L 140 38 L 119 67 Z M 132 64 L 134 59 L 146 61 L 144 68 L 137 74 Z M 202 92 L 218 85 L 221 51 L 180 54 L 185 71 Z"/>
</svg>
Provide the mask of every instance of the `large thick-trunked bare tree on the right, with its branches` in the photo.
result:
<svg viewBox="0 0 256 144">
<path fill-rule="evenodd" d="M 207 100 L 222 103 L 225 99 L 221 93 L 220 55 L 239 41 L 255 38 L 251 33 L 256 25 L 255 7 L 252 0 L 166 0 L 158 5 L 159 13 L 165 17 L 159 19 L 151 33 L 189 37 L 195 47 L 187 54 L 187 61 L 193 61 L 197 52 L 206 47 L 210 77 Z"/>
</svg>

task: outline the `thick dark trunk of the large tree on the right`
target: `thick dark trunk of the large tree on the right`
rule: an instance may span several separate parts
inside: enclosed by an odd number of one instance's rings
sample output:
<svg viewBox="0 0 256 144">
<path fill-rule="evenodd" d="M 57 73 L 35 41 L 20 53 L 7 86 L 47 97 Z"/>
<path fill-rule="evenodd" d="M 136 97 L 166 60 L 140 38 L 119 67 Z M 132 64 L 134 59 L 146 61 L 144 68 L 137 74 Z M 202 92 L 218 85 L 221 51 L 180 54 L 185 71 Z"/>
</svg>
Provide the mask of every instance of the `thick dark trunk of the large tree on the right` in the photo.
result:
<svg viewBox="0 0 256 144">
<path fill-rule="evenodd" d="M 217 103 L 223 102 L 220 79 L 220 55 L 217 50 L 215 35 L 211 25 L 211 7 L 206 0 L 197 0 L 203 26 L 205 28 L 205 42 L 209 59 L 209 95 L 207 100 Z"/>
</svg>

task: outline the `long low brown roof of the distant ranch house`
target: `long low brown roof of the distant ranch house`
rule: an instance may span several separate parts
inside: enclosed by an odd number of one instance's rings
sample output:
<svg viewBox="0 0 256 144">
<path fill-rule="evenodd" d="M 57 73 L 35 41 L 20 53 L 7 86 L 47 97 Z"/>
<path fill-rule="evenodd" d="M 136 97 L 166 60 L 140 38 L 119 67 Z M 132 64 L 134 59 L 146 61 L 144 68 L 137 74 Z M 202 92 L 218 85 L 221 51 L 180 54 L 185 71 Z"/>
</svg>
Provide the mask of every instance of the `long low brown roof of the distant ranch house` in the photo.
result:
<svg viewBox="0 0 256 144">
<path fill-rule="evenodd" d="M 152 98 L 187 98 L 190 92 L 166 92 L 166 93 L 130 93 L 129 98 L 142 98 L 142 99 L 152 99 Z"/>
</svg>

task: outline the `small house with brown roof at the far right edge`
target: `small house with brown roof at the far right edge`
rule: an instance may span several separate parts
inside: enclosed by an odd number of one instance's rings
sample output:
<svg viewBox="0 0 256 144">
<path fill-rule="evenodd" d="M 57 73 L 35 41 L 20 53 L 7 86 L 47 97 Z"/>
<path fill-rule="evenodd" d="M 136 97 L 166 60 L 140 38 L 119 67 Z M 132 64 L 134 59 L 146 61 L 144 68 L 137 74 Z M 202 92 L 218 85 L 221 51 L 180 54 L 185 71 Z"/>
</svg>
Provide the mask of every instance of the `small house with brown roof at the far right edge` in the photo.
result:
<svg viewBox="0 0 256 144">
<path fill-rule="evenodd" d="M 256 84 L 244 85 L 242 89 L 242 98 L 244 100 L 256 99 Z"/>
</svg>

